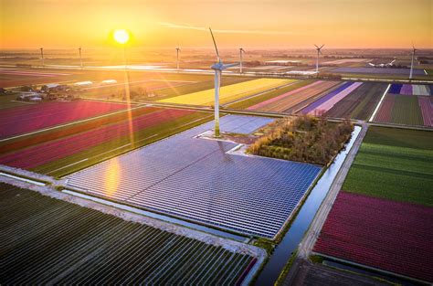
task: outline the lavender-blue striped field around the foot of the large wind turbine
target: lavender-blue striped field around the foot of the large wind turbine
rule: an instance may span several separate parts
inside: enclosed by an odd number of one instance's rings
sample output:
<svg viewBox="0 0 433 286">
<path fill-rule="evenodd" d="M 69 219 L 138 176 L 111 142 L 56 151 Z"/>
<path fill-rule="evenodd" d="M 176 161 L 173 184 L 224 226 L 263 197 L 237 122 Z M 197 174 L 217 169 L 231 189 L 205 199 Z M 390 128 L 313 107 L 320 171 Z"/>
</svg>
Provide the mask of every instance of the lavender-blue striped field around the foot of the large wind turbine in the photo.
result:
<svg viewBox="0 0 433 286">
<path fill-rule="evenodd" d="M 264 120 L 225 116 L 221 129 L 250 132 Z M 227 154 L 235 143 L 195 138 L 212 126 L 200 125 L 69 175 L 68 185 L 174 217 L 273 238 L 321 168 Z"/>
</svg>

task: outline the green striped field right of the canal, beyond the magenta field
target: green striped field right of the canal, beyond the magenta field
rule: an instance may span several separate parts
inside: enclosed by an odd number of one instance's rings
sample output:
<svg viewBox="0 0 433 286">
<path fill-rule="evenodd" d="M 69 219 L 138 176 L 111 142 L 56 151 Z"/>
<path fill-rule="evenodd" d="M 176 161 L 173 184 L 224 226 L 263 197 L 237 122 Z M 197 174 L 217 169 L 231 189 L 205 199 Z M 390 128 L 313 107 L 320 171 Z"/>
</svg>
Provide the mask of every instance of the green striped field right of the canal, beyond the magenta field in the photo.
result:
<svg viewBox="0 0 433 286">
<path fill-rule="evenodd" d="M 433 132 L 370 127 L 343 190 L 433 206 Z"/>
</svg>

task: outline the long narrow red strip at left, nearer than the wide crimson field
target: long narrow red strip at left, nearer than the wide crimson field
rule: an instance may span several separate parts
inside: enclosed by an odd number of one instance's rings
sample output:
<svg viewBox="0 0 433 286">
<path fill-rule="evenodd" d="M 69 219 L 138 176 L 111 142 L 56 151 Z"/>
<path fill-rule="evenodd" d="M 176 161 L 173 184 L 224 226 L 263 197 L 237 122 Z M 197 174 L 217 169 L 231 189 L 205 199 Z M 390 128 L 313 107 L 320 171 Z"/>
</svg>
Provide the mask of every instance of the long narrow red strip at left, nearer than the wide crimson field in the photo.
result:
<svg viewBox="0 0 433 286">
<path fill-rule="evenodd" d="M 136 117 L 132 122 L 124 121 L 105 125 L 88 132 L 80 132 L 48 143 L 41 143 L 18 152 L 5 154 L 0 157 L 0 164 L 7 164 L 18 168 L 34 168 L 40 164 L 47 164 L 77 154 L 100 143 L 126 136 L 150 126 L 170 122 L 175 118 L 193 111 L 162 110 Z"/>
</svg>

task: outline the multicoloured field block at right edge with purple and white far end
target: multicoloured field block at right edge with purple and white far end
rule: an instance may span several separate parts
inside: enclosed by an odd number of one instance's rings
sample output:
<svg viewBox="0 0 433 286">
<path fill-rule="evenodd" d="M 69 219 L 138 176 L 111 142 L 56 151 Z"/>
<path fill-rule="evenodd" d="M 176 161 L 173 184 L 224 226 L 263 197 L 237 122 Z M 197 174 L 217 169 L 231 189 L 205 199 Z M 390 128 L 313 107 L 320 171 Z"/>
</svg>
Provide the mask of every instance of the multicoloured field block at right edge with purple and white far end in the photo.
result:
<svg viewBox="0 0 433 286">
<path fill-rule="evenodd" d="M 375 122 L 433 127 L 433 97 L 428 86 L 392 84 Z"/>
</svg>

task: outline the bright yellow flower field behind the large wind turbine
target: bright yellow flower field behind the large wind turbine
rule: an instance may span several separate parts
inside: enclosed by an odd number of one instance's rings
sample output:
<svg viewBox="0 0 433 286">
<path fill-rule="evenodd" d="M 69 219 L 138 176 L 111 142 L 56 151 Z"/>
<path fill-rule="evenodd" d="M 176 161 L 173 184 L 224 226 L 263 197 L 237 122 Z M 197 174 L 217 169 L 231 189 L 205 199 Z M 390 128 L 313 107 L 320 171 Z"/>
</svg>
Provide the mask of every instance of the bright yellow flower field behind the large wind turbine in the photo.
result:
<svg viewBox="0 0 433 286">
<path fill-rule="evenodd" d="M 219 103 L 224 104 L 229 101 L 236 101 L 249 95 L 253 95 L 264 90 L 276 88 L 280 85 L 288 84 L 293 81 L 293 79 L 253 79 L 239 82 L 236 84 L 231 84 L 225 87 L 221 87 L 219 94 Z M 213 105 L 214 94 L 214 89 L 202 90 L 188 93 L 185 95 L 175 96 L 169 99 L 164 99 L 160 102 L 193 105 Z"/>
</svg>

